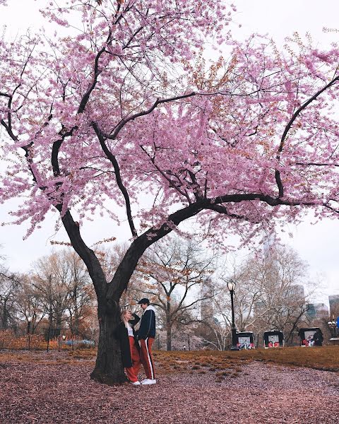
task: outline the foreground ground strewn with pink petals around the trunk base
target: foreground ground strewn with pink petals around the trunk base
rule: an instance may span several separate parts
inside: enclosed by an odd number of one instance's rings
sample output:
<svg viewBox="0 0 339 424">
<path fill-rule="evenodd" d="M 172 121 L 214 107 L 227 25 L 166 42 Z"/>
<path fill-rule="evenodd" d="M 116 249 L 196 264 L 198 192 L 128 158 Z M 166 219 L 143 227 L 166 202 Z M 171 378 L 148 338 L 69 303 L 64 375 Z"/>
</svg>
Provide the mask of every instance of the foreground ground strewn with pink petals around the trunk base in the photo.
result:
<svg viewBox="0 0 339 424">
<path fill-rule="evenodd" d="M 157 384 L 109 387 L 93 362 L 1 359 L 1 424 L 339 423 L 338 373 L 253 362 L 218 382 L 215 373 L 161 375 Z"/>
</svg>

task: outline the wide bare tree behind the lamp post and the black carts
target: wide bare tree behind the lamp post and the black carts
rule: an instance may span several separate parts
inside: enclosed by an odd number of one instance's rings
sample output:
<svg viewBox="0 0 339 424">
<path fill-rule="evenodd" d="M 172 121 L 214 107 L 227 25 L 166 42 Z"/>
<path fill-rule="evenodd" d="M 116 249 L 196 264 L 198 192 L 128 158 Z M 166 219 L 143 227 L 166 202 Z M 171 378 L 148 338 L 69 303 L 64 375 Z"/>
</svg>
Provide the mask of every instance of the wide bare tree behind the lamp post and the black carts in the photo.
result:
<svg viewBox="0 0 339 424">
<path fill-rule="evenodd" d="M 307 268 L 297 252 L 280 245 L 270 246 L 244 264 L 234 266 L 227 278 L 237 284 L 234 290 L 237 330 L 262 334 L 277 329 L 284 332 L 287 343 L 292 343 L 293 334 L 304 321 L 308 299 L 314 293 L 310 290 L 305 293 L 304 285 L 309 283 Z M 213 331 L 221 348 L 231 325 L 230 293 L 225 284 L 220 285 L 214 305 L 218 323 Z"/>
</svg>

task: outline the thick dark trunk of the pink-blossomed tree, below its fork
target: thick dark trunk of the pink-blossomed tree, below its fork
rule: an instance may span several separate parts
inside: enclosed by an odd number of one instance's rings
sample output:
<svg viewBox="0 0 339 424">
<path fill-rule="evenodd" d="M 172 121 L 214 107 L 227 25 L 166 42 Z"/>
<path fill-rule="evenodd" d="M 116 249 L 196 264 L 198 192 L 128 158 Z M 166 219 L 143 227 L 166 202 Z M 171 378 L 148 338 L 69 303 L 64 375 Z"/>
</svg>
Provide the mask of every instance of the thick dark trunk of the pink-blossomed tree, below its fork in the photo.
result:
<svg viewBox="0 0 339 424">
<path fill-rule="evenodd" d="M 100 334 L 97 346 L 97 360 L 90 378 L 110 386 L 126 382 L 127 379 L 121 362 L 119 341 L 114 338 L 114 330 L 120 322 L 119 304 L 110 305 L 109 313 L 107 313 L 107 307 L 100 305 L 98 307 L 98 317 Z"/>
</svg>

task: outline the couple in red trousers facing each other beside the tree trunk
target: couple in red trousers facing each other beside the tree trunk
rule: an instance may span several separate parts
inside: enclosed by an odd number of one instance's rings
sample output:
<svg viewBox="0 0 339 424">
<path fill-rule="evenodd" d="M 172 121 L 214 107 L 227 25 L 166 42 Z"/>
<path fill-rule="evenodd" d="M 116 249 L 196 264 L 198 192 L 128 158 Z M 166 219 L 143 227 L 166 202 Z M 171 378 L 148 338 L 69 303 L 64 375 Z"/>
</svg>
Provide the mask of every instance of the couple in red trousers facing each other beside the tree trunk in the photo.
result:
<svg viewBox="0 0 339 424">
<path fill-rule="evenodd" d="M 124 310 L 121 312 L 121 322 L 117 326 L 115 336 L 120 341 L 122 365 L 124 365 L 131 384 L 155 384 L 152 356 L 152 345 L 155 338 L 155 309 L 150 306 L 150 301 L 146 298 L 139 300 L 138 304 L 143 310 L 138 331 L 134 330 L 134 326 L 140 321 L 140 318 L 137 314 Z M 146 378 L 139 382 L 138 372 L 141 364 L 143 364 Z"/>
</svg>

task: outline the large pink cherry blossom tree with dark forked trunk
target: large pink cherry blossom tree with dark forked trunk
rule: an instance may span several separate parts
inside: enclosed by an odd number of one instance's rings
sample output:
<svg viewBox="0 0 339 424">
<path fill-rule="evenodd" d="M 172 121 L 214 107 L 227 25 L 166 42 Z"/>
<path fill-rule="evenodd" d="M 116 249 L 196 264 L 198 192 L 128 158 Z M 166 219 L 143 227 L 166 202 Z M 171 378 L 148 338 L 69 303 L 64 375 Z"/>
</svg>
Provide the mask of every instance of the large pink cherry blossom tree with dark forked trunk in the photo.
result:
<svg viewBox="0 0 339 424">
<path fill-rule="evenodd" d="M 27 235 L 59 211 L 97 294 L 92 377 L 114 384 L 119 299 L 150 245 L 192 217 L 225 242 L 309 206 L 337 213 L 338 49 L 232 40 L 221 0 L 60 0 L 42 14 L 62 35 L 0 42 L 0 201 L 23 200 L 12 216 Z M 229 59 L 204 64 L 223 42 Z M 81 224 L 121 208 L 131 245 L 107 281 Z"/>
</svg>

